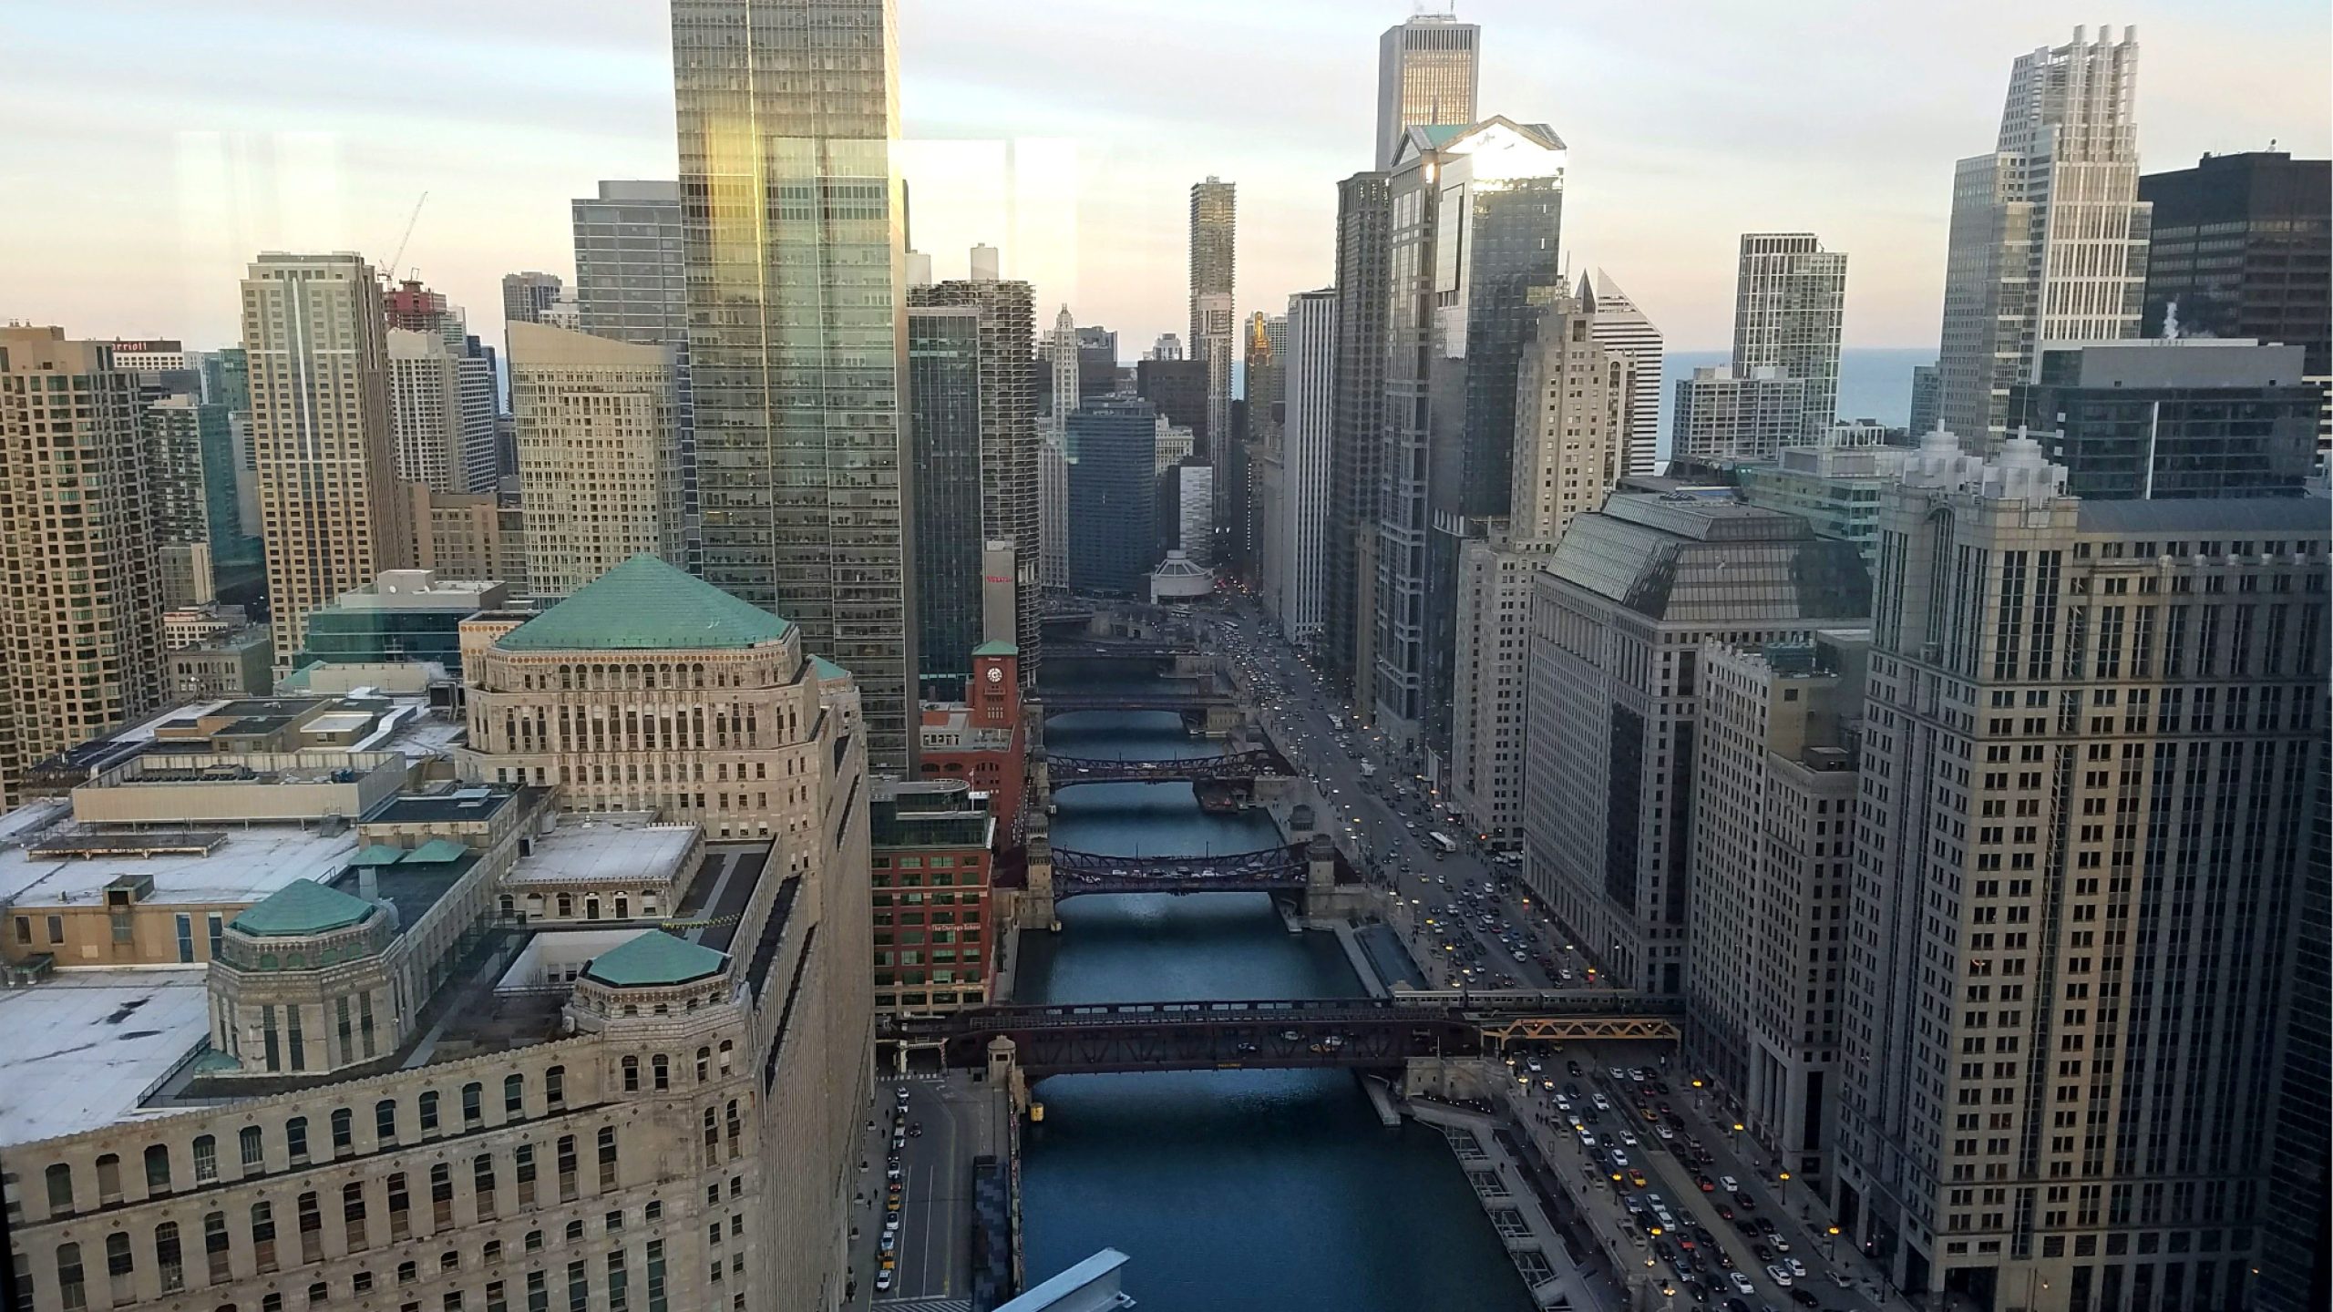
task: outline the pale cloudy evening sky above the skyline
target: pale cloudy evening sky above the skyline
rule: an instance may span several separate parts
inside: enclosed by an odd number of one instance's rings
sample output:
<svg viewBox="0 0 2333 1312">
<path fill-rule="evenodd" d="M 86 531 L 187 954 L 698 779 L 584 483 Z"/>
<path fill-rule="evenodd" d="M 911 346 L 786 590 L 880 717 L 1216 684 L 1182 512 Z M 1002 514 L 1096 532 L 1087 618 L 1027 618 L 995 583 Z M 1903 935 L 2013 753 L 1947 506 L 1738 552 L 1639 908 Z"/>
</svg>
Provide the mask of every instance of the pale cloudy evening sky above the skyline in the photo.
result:
<svg viewBox="0 0 2333 1312">
<path fill-rule="evenodd" d="M 1239 184 L 1239 308 L 1330 282 L 1402 0 L 896 0 L 901 166 L 940 278 L 1003 250 L 1043 322 L 1187 320 L 1187 191 Z M 1481 112 L 1570 147 L 1563 250 L 1673 348 L 1731 334 L 1743 231 L 1848 261 L 1848 348 L 1934 348 L 1953 161 L 2009 63 L 2139 35 L 2146 170 L 2328 154 L 2321 0 L 1460 0 Z M 357 250 L 499 339 L 509 271 L 572 275 L 567 201 L 672 177 L 658 0 L 0 0 L 0 322 L 224 346 L 259 250 Z M 415 203 L 427 194 L 415 215 Z M 411 222 L 411 238 L 404 238 Z"/>
</svg>

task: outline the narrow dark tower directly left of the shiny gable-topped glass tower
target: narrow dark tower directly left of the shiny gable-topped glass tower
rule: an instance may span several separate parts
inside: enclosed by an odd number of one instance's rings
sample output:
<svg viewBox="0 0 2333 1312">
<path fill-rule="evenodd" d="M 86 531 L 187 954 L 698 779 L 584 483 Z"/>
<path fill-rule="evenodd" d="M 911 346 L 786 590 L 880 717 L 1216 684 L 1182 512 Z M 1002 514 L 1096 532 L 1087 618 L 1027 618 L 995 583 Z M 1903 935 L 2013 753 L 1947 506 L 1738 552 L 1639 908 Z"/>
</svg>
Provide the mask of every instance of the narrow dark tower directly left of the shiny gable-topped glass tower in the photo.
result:
<svg viewBox="0 0 2333 1312">
<path fill-rule="evenodd" d="M 1330 679 L 1362 717 L 1376 640 L 1376 458 L 1386 399 L 1386 175 L 1337 184 L 1337 357 L 1330 367 L 1325 602 Z M 1362 672 L 1355 679 L 1355 672 Z"/>
</svg>

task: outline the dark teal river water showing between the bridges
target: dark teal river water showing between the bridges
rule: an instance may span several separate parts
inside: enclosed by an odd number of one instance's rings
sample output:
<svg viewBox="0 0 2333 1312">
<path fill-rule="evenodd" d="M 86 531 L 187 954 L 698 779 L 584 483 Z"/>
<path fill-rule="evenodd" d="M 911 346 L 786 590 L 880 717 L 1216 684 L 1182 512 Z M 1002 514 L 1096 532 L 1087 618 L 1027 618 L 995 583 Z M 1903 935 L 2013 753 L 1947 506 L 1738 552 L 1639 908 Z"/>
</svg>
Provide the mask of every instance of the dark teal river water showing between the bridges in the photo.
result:
<svg viewBox="0 0 2333 1312">
<path fill-rule="evenodd" d="M 1048 668 L 1048 686 L 1055 677 Z M 1215 749 L 1162 712 L 1064 714 L 1045 740 L 1064 756 Z M 1276 833 L 1260 815 L 1201 812 L 1190 784 L 1087 784 L 1059 794 L 1052 838 L 1085 852 L 1246 852 Z M 1262 894 L 1080 896 L 1059 936 L 1020 943 L 1015 1002 L 1360 995 L 1334 938 L 1288 934 Z M 1127 1291 L 1162 1312 L 1530 1307 L 1442 1137 L 1379 1125 L 1351 1074 L 1055 1076 L 1036 1097 L 1045 1121 L 1027 1130 L 1022 1177 L 1031 1279 L 1115 1247 L 1134 1258 Z"/>
</svg>

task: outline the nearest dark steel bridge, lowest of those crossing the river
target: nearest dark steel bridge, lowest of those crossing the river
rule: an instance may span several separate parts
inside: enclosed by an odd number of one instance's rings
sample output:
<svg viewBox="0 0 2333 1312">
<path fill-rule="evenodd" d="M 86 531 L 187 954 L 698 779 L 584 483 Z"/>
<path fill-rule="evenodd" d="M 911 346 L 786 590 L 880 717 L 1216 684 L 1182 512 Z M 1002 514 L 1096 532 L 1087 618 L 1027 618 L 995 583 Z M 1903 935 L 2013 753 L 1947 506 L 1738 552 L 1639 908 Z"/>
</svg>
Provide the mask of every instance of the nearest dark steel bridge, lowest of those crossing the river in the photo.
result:
<svg viewBox="0 0 2333 1312">
<path fill-rule="evenodd" d="M 992 1039 L 1013 1039 L 1015 1060 L 1031 1079 L 1393 1067 L 1409 1058 L 1474 1058 L 1507 1039 L 1675 1039 L 1677 1006 L 1675 999 L 1605 990 L 985 1006 L 898 1018 L 882 1037 L 940 1046 L 950 1067 L 980 1067 Z"/>
</svg>

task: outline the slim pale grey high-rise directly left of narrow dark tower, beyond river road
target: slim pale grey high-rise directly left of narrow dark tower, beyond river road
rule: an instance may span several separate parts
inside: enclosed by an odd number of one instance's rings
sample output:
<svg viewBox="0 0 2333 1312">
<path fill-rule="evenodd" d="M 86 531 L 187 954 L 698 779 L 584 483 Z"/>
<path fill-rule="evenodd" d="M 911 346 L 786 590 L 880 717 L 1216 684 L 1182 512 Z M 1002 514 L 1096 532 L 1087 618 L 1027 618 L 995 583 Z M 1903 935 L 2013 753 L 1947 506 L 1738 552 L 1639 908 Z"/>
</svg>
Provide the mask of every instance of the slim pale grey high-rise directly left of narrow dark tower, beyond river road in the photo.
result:
<svg viewBox="0 0 2333 1312">
<path fill-rule="evenodd" d="M 1320 637 L 1327 609 L 1327 493 L 1334 439 L 1337 292 L 1288 296 L 1281 350 L 1281 633 Z"/>
</svg>

